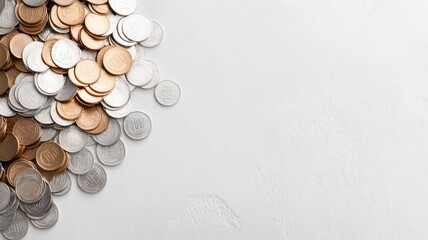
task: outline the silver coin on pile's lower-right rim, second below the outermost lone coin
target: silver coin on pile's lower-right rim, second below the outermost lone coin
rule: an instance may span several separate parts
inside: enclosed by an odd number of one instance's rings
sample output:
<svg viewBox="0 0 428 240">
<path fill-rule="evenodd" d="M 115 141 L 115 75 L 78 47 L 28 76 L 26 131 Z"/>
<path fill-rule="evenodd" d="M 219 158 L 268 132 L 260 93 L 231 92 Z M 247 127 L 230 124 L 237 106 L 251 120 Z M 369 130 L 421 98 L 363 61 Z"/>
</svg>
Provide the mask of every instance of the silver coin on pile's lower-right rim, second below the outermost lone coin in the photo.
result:
<svg viewBox="0 0 428 240">
<path fill-rule="evenodd" d="M 97 157 L 107 166 L 116 166 L 123 162 L 126 155 L 125 145 L 121 140 L 111 146 L 97 145 Z"/>
</svg>

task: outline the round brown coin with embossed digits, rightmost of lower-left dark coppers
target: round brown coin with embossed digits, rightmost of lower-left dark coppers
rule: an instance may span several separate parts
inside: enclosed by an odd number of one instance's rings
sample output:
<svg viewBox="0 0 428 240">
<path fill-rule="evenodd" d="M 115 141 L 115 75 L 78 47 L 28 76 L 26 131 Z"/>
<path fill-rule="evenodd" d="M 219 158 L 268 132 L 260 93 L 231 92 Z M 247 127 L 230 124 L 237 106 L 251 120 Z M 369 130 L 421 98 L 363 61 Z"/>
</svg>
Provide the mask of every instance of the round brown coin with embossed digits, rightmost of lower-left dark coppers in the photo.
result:
<svg viewBox="0 0 428 240">
<path fill-rule="evenodd" d="M 46 142 L 37 149 L 36 163 L 45 171 L 56 171 L 62 166 L 65 157 L 65 152 L 58 143 Z"/>
</svg>

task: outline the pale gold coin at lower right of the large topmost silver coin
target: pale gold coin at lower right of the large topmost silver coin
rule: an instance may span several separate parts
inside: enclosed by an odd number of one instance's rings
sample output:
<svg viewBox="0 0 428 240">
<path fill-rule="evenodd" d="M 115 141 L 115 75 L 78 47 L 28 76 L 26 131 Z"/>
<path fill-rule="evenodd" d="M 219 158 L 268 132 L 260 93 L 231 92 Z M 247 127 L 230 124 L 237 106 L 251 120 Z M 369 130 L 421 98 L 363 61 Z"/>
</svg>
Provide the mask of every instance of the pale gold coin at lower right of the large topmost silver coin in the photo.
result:
<svg viewBox="0 0 428 240">
<path fill-rule="evenodd" d="M 85 85 L 92 84 L 100 79 L 101 68 L 98 63 L 93 60 L 81 60 L 74 68 L 74 75 L 79 82 Z"/>
</svg>

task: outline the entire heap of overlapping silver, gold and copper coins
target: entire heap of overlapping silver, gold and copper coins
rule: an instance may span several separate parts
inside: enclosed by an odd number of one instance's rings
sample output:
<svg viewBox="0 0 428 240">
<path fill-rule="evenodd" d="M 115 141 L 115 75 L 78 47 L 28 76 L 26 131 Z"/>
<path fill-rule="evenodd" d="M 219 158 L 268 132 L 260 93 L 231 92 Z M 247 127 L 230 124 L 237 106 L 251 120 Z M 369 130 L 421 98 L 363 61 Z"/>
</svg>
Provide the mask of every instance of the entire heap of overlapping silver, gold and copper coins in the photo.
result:
<svg viewBox="0 0 428 240">
<path fill-rule="evenodd" d="M 122 132 L 135 140 L 150 134 L 150 117 L 133 111 L 134 89 L 152 89 L 163 106 L 179 101 L 177 83 L 160 81 L 146 59 L 163 29 L 135 13 L 137 3 L 0 0 L 0 231 L 7 239 L 24 237 L 30 222 L 54 226 L 53 196 L 69 192 L 72 175 L 84 192 L 101 191 L 103 166 L 125 159 Z"/>
</svg>

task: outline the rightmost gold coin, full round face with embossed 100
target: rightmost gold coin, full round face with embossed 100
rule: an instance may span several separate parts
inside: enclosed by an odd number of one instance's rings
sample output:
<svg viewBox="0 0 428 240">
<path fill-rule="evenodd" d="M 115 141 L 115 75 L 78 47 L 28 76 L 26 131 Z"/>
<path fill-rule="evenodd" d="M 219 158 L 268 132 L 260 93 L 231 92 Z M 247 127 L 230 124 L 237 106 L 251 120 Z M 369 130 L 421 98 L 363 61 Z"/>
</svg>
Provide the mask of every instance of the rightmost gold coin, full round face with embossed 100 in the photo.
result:
<svg viewBox="0 0 428 240">
<path fill-rule="evenodd" d="M 113 75 L 123 75 L 131 69 L 131 54 L 122 47 L 112 47 L 107 50 L 103 57 L 105 69 Z"/>
</svg>

